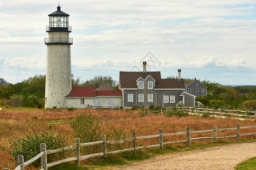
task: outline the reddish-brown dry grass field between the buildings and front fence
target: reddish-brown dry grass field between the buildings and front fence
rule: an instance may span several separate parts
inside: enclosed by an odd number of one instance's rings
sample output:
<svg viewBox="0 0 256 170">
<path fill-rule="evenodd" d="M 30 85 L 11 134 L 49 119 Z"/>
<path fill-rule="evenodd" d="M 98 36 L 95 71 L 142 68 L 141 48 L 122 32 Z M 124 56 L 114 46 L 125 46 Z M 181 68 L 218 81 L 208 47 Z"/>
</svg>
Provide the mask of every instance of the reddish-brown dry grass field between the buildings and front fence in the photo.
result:
<svg viewBox="0 0 256 170">
<path fill-rule="evenodd" d="M 191 131 L 212 129 L 213 125 L 217 128 L 235 128 L 237 123 L 240 126 L 255 126 L 255 121 L 236 120 L 230 118 L 202 118 L 195 116 L 187 117 L 167 117 L 164 115 L 141 117 L 141 110 L 131 111 L 129 109 L 2 109 L 0 111 L 0 169 L 14 168 L 15 162 L 9 154 L 10 144 L 7 139 L 15 139 L 24 137 L 25 133 L 33 133 L 36 131 L 48 130 L 52 126 L 56 133 L 70 134 L 69 141 L 74 141 L 73 131 L 68 122 L 64 124 L 48 124 L 49 121 L 65 121 L 72 120 L 79 114 L 91 113 L 94 116 L 100 117 L 100 120 L 115 128 L 125 128 L 127 133 L 136 132 L 140 135 L 158 134 L 158 129 L 162 129 L 163 133 L 175 133 L 185 131 L 186 127 L 190 127 Z M 241 133 L 255 132 L 254 129 L 241 129 Z M 217 136 L 236 135 L 236 131 L 218 131 Z M 212 133 L 191 134 L 191 138 L 212 136 Z M 256 135 L 243 136 L 244 138 L 256 138 Z M 164 141 L 178 141 L 186 139 L 185 135 L 164 138 Z M 236 140 L 236 138 L 219 139 Z M 156 139 L 157 141 L 157 139 Z M 145 145 L 156 144 L 152 139 L 141 141 Z M 212 143 L 213 141 L 196 141 L 193 143 Z M 181 144 L 180 144 L 181 145 Z M 185 145 L 185 144 L 184 144 Z"/>
</svg>

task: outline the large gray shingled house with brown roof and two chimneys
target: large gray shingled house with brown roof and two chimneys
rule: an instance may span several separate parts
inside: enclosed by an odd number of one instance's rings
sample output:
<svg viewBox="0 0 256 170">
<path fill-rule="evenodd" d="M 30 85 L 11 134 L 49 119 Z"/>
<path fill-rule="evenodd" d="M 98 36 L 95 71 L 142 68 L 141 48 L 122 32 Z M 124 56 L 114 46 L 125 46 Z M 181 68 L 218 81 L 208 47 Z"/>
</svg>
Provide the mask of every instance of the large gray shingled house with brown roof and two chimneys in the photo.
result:
<svg viewBox="0 0 256 170">
<path fill-rule="evenodd" d="M 138 107 L 195 105 L 196 96 L 185 92 L 180 69 L 178 79 L 162 79 L 160 71 L 146 71 L 146 62 L 143 62 L 143 65 L 142 72 L 120 71 L 119 73 L 119 89 L 122 91 L 124 108 L 135 105 Z"/>
</svg>

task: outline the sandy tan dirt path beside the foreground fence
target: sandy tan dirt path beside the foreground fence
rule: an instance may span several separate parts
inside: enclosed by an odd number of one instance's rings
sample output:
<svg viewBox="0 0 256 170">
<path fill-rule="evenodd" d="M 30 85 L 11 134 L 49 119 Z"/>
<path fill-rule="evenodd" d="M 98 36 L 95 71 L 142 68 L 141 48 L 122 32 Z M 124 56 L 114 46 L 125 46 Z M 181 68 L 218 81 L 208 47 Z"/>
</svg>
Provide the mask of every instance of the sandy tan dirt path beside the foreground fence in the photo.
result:
<svg viewBox="0 0 256 170">
<path fill-rule="evenodd" d="M 256 156 L 256 142 L 211 147 L 205 150 L 157 156 L 119 169 L 234 169 Z"/>
</svg>

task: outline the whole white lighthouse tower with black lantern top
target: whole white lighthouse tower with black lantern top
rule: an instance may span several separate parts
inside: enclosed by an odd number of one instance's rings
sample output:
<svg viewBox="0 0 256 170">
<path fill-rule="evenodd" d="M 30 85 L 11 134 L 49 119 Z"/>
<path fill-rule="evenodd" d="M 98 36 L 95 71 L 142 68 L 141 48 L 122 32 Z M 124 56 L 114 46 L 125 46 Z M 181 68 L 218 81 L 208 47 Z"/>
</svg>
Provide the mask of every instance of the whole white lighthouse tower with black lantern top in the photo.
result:
<svg viewBox="0 0 256 170">
<path fill-rule="evenodd" d="M 60 10 L 49 14 L 49 25 L 46 27 L 48 38 L 47 66 L 45 82 L 45 108 L 65 108 L 65 96 L 72 89 L 69 15 Z"/>
</svg>

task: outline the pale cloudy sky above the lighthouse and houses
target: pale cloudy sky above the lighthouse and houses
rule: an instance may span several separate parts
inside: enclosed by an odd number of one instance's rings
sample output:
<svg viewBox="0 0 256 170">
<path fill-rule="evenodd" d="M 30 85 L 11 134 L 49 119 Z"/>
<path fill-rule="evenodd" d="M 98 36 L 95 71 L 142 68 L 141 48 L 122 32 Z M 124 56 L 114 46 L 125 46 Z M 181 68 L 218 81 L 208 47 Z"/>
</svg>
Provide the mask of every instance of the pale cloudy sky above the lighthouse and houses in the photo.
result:
<svg viewBox="0 0 256 170">
<path fill-rule="evenodd" d="M 161 71 L 256 85 L 255 0 L 1 0 L 0 78 L 10 83 L 45 74 L 48 14 L 69 14 L 72 74 L 81 80 L 119 71 Z"/>
</svg>

